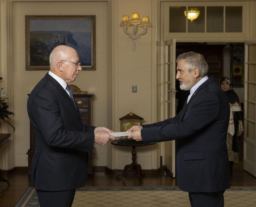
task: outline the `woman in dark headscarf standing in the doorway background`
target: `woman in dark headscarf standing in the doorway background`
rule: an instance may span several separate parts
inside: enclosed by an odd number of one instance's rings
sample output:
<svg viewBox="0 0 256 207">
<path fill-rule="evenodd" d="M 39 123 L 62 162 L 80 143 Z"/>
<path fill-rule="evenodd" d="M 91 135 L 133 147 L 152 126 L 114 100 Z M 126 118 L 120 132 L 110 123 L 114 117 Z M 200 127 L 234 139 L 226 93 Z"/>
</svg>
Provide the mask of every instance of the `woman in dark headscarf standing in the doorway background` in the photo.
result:
<svg viewBox="0 0 256 207">
<path fill-rule="evenodd" d="M 227 147 L 229 155 L 230 164 L 230 178 L 233 176 L 233 163 L 239 162 L 239 153 L 237 145 L 237 137 L 239 137 L 243 130 L 241 105 L 239 98 L 235 91 L 230 85 L 230 79 L 227 77 L 222 77 L 220 79 L 220 87 L 222 91 L 225 92 L 229 99 L 230 106 L 230 118 L 229 118 L 229 128 L 227 134 Z"/>
</svg>

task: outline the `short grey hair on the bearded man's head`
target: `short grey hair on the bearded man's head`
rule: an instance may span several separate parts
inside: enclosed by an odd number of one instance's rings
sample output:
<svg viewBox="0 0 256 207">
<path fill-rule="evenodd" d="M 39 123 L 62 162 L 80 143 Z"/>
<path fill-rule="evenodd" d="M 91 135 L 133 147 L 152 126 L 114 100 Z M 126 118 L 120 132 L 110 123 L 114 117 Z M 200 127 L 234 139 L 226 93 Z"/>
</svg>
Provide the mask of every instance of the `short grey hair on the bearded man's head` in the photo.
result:
<svg viewBox="0 0 256 207">
<path fill-rule="evenodd" d="M 188 72 L 191 73 L 194 68 L 198 68 L 200 70 L 199 76 L 204 77 L 208 75 L 208 63 L 203 55 L 196 52 L 185 52 L 177 57 L 176 62 L 180 60 L 185 60 L 184 66 L 188 68 Z"/>
</svg>

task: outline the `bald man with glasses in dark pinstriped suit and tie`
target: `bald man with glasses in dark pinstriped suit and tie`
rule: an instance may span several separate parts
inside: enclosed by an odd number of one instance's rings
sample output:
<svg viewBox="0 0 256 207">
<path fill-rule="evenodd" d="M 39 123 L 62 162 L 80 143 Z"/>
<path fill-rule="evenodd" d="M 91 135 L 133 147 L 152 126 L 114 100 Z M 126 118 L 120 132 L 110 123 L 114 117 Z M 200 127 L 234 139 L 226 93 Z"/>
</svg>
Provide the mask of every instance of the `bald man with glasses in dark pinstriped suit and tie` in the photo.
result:
<svg viewBox="0 0 256 207">
<path fill-rule="evenodd" d="M 71 207 L 76 188 L 87 180 L 88 153 L 94 143 L 114 139 L 106 127 L 83 125 L 80 111 L 67 85 L 82 70 L 71 47 L 59 45 L 50 54 L 50 71 L 34 87 L 27 101 L 36 149 L 31 185 L 40 207 Z"/>
</svg>

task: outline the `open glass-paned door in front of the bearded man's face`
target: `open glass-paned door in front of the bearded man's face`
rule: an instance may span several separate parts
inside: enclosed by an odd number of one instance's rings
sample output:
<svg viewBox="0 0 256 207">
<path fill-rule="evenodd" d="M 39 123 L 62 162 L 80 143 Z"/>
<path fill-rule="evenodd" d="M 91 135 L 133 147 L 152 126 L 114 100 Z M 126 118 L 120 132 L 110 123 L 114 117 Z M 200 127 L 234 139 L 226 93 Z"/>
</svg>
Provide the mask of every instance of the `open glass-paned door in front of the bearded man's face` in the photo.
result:
<svg viewBox="0 0 256 207">
<path fill-rule="evenodd" d="M 164 48 L 164 118 L 168 119 L 175 116 L 175 39 L 165 41 Z M 163 156 L 165 166 L 175 177 L 175 140 L 164 142 Z"/>
</svg>

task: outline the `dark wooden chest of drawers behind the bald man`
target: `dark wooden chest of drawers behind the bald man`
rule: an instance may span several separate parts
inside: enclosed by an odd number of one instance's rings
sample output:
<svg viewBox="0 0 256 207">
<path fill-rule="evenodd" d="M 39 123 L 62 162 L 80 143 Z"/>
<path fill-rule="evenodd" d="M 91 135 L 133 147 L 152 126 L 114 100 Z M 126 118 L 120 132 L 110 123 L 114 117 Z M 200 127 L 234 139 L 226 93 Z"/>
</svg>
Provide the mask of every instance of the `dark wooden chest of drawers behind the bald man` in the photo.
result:
<svg viewBox="0 0 256 207">
<path fill-rule="evenodd" d="M 82 115 L 82 121 L 86 125 L 91 125 L 92 96 L 93 94 L 73 94 L 74 99 Z M 35 153 L 35 133 L 30 124 L 30 149 L 28 155 L 28 174 L 31 176 L 32 159 Z M 93 178 L 93 154 L 88 154 L 88 176 Z"/>
</svg>

